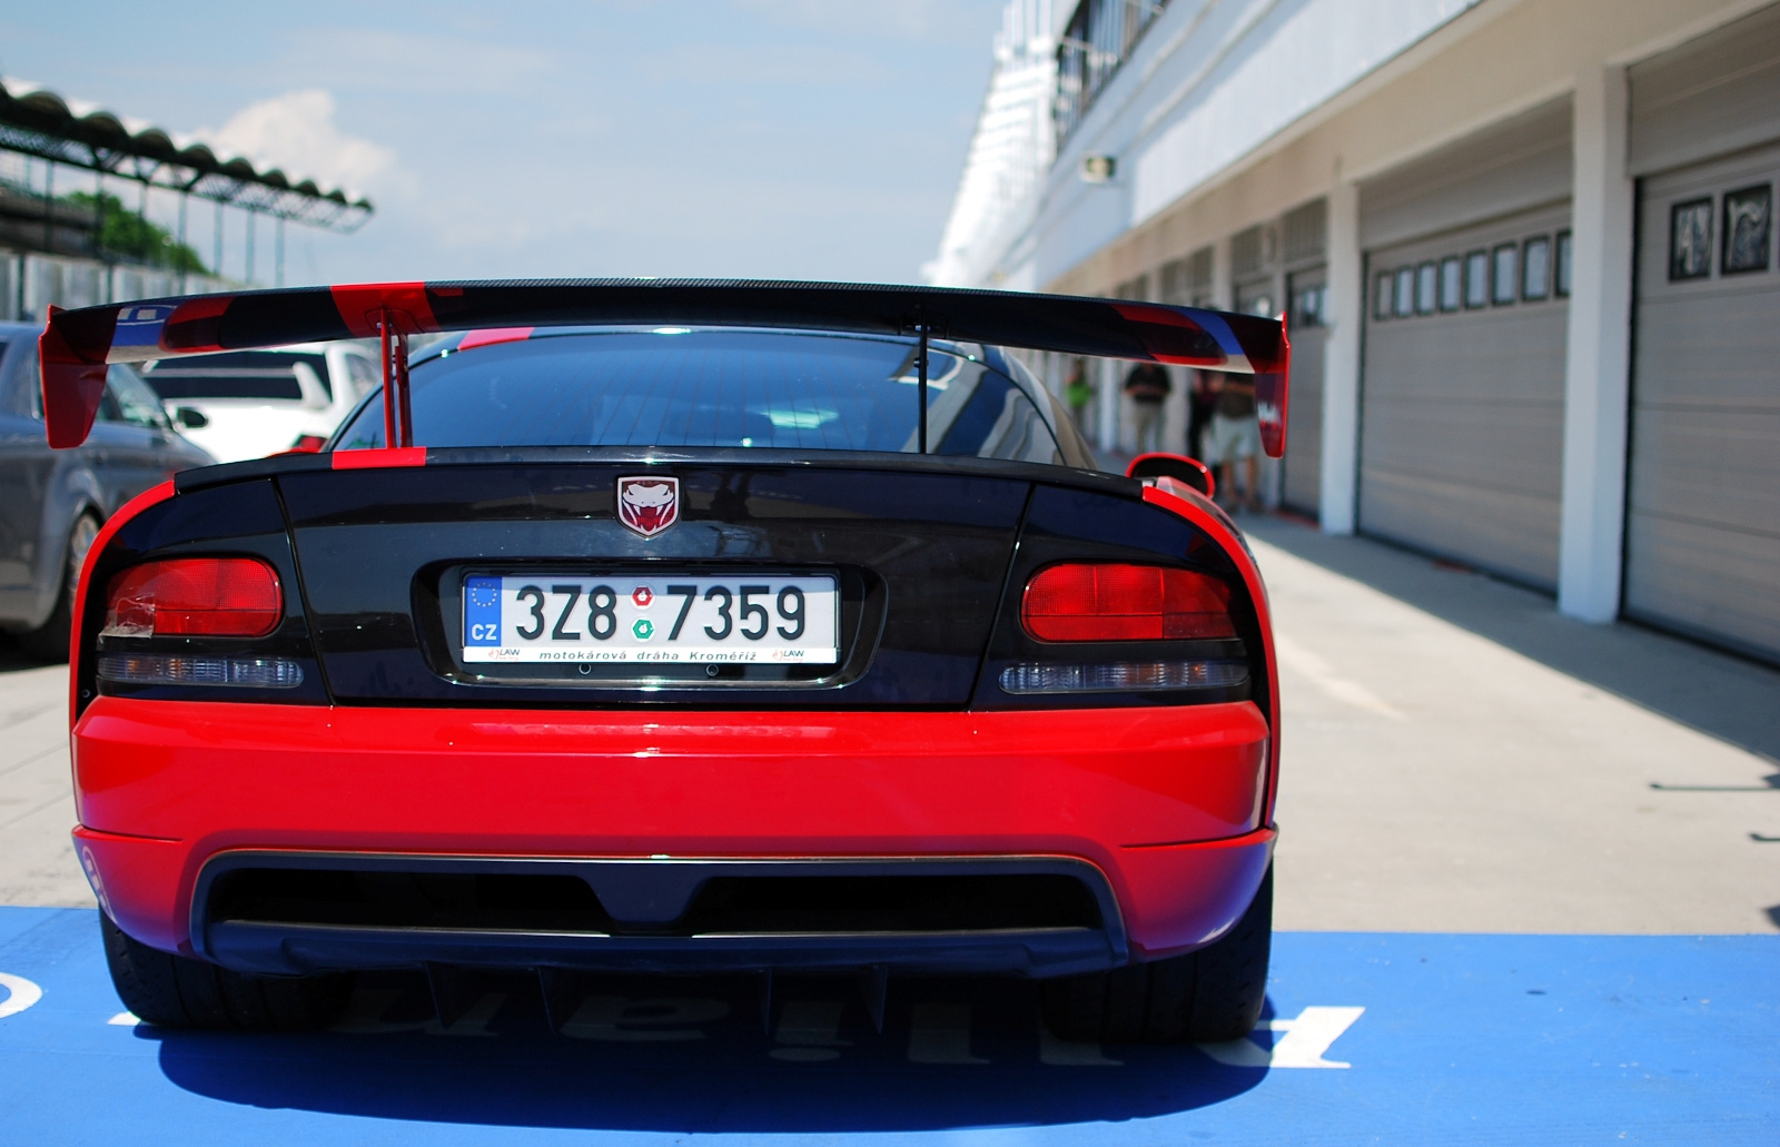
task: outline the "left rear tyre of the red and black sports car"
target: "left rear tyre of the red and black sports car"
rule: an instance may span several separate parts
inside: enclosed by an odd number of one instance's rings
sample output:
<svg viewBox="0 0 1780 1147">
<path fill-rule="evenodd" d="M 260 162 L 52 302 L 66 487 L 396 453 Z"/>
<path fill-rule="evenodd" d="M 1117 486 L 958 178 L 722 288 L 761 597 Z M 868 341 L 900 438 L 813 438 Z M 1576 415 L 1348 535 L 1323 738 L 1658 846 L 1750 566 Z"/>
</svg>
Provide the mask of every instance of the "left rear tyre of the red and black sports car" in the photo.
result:
<svg viewBox="0 0 1780 1147">
<path fill-rule="evenodd" d="M 205 960 L 174 956 L 123 933 L 100 912 L 105 964 L 117 999 L 162 1028 L 315 1031 L 345 1010 L 352 976 L 247 976 Z"/>
</svg>

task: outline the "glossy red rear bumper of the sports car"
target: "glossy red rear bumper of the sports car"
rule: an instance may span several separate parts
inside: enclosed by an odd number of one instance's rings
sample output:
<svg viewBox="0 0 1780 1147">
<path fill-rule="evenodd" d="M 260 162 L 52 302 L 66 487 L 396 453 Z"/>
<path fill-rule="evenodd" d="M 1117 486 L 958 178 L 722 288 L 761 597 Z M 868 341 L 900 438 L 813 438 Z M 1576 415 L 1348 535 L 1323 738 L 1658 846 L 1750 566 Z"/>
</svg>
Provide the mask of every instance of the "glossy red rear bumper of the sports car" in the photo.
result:
<svg viewBox="0 0 1780 1147">
<path fill-rule="evenodd" d="M 1048 712 L 320 709 L 98 698 L 82 862 L 130 935 L 192 951 L 230 850 L 490 857 L 1070 857 L 1132 955 L 1223 933 L 1273 850 L 1248 702 Z"/>
</svg>

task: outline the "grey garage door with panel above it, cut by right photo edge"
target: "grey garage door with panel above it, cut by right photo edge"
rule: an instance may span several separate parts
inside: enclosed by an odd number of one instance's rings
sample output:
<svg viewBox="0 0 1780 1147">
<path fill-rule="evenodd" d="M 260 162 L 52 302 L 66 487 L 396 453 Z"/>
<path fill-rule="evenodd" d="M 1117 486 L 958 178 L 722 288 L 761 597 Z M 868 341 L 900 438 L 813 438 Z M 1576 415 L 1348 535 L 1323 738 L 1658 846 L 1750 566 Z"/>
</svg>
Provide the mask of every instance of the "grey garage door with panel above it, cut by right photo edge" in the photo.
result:
<svg viewBox="0 0 1780 1147">
<path fill-rule="evenodd" d="M 1768 659 L 1780 659 L 1776 139 L 1780 12 L 1632 69 L 1645 178 L 1625 613 Z"/>
</svg>

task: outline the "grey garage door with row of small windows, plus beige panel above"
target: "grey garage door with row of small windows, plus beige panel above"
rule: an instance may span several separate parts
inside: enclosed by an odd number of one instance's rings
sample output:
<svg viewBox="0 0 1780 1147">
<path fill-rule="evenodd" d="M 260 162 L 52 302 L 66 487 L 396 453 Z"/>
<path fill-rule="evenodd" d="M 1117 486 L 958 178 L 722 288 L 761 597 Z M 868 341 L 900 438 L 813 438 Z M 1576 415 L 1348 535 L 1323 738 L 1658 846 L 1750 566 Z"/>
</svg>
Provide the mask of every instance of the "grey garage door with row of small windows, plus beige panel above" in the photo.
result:
<svg viewBox="0 0 1780 1147">
<path fill-rule="evenodd" d="M 1568 98 L 1360 187 L 1360 529 L 1558 584 Z"/>
</svg>

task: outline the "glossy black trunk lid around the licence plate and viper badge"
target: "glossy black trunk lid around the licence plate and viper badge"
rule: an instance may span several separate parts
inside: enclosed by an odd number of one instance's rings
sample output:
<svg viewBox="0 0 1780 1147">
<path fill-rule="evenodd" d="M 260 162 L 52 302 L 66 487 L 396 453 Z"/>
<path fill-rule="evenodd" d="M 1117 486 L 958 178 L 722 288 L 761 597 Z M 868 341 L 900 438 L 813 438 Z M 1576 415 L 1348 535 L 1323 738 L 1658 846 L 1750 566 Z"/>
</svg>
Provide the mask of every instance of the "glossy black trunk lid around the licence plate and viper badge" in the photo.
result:
<svg viewBox="0 0 1780 1147">
<path fill-rule="evenodd" d="M 680 479 L 680 522 L 616 518 L 621 476 Z M 970 702 L 1031 483 L 733 463 L 427 465 L 281 474 L 328 687 L 342 704 L 959 707 Z M 842 664 L 639 689 L 550 666 L 466 666 L 466 570 L 833 572 Z"/>
</svg>

